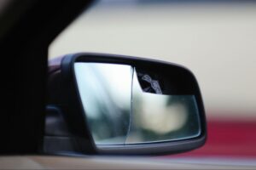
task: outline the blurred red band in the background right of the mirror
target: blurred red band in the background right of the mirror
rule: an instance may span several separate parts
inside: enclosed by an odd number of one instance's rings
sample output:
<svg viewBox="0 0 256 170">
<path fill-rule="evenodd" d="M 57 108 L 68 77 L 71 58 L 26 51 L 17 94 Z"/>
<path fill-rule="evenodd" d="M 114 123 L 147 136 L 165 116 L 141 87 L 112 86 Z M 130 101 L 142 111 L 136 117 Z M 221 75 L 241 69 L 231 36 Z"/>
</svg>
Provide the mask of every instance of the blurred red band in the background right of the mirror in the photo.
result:
<svg viewBox="0 0 256 170">
<path fill-rule="evenodd" d="M 256 121 L 209 118 L 207 143 L 198 150 L 177 156 L 255 158 Z"/>
</svg>

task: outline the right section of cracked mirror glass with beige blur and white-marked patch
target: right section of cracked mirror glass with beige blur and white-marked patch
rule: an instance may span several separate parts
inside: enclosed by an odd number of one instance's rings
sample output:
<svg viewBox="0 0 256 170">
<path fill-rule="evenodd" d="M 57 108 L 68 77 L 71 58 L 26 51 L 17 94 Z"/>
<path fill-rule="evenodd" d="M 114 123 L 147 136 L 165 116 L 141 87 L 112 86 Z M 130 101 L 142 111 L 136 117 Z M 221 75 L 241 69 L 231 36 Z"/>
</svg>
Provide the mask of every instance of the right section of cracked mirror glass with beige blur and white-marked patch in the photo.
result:
<svg viewBox="0 0 256 170">
<path fill-rule="evenodd" d="M 200 122 L 195 96 L 165 94 L 164 81 L 159 81 L 163 77 L 153 79 L 148 74 L 137 76 L 140 74 L 134 71 L 131 131 L 125 143 L 160 142 L 198 136 Z M 148 78 L 146 80 L 143 77 Z M 144 83 L 143 88 L 143 81 L 149 82 L 148 86 Z"/>
</svg>

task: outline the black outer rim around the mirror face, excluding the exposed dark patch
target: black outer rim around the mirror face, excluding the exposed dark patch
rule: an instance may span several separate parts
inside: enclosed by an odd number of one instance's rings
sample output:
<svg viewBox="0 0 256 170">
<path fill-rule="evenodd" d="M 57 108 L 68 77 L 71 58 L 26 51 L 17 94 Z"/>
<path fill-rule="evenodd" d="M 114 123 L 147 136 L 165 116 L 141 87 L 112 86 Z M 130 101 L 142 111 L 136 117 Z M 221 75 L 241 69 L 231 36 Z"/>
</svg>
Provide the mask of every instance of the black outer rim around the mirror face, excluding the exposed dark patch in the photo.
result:
<svg viewBox="0 0 256 170">
<path fill-rule="evenodd" d="M 74 74 L 74 63 L 75 62 L 102 62 L 102 63 L 115 63 L 115 64 L 128 64 L 128 65 L 166 65 L 175 66 L 189 74 L 195 83 L 197 98 L 199 102 L 200 111 L 200 122 L 201 122 L 201 135 L 191 139 L 183 139 L 179 141 L 165 141 L 157 142 L 154 144 L 126 144 L 123 145 L 112 145 L 106 146 L 102 149 L 96 147 L 92 139 L 89 127 L 86 123 L 86 116 L 82 106 L 81 99 L 79 97 L 78 84 Z M 67 111 L 67 117 L 70 119 L 68 122 L 71 124 L 77 144 L 81 148 L 81 152 L 84 154 L 99 154 L 99 155 L 166 155 L 166 154 L 177 154 L 189 150 L 195 150 L 206 143 L 207 140 L 207 122 L 206 115 L 201 98 L 201 91 L 198 82 L 195 79 L 194 74 L 185 68 L 183 65 L 177 65 L 166 61 L 159 61 L 156 59 L 143 59 L 118 54 L 95 54 L 95 53 L 78 53 L 78 54 L 67 54 L 61 61 L 61 74 L 66 79 L 68 84 L 67 91 L 69 91 L 68 100 L 70 102 L 70 108 Z M 73 99 L 73 100 L 72 100 Z M 75 109 L 77 112 L 76 116 L 71 116 L 70 111 Z M 74 118 L 76 117 L 76 118 Z M 84 120 L 84 121 L 82 121 Z M 79 123 L 78 123 L 79 122 Z M 79 129 L 81 125 L 84 125 L 84 129 Z"/>
</svg>

